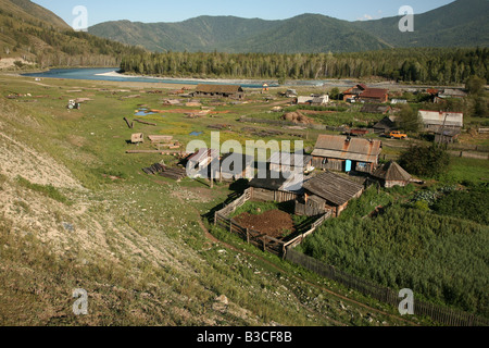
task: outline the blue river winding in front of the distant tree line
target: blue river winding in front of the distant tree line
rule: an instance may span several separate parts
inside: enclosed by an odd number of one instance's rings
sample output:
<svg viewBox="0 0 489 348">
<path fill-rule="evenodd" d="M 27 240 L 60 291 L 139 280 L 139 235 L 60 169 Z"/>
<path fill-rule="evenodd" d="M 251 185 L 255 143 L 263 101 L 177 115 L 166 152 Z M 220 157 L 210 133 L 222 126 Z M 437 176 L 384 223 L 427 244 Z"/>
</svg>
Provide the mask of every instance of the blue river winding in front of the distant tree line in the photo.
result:
<svg viewBox="0 0 489 348">
<path fill-rule="evenodd" d="M 83 67 L 83 69 L 52 69 L 42 73 L 23 74 L 23 76 L 41 77 L 41 78 L 66 78 L 66 79 L 89 79 L 89 80 L 112 80 L 112 82 L 134 82 L 134 83 L 154 83 L 154 84 L 175 84 L 175 85 L 199 85 L 205 83 L 208 85 L 220 85 L 220 82 L 203 82 L 195 79 L 165 79 L 156 77 L 129 77 L 129 76 L 99 76 L 110 72 L 118 71 L 118 67 Z M 267 83 L 271 87 L 278 86 L 267 80 L 256 82 L 253 84 L 241 84 L 239 80 L 226 82 L 226 85 L 239 85 L 244 88 L 262 88 Z"/>
</svg>

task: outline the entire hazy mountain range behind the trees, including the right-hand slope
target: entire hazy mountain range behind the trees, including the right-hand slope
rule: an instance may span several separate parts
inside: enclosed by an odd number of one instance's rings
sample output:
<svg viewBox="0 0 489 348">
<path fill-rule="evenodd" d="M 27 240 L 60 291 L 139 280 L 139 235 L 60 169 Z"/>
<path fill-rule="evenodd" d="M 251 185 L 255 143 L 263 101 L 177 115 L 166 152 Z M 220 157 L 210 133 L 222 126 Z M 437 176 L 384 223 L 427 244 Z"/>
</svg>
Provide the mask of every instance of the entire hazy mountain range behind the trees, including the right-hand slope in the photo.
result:
<svg viewBox="0 0 489 348">
<path fill-rule="evenodd" d="M 415 32 L 401 33 L 401 16 L 348 22 L 321 14 L 284 21 L 200 16 L 178 23 L 105 22 L 96 36 L 151 51 L 352 52 L 392 47 L 489 46 L 489 2 L 457 0 L 415 15 Z"/>
</svg>

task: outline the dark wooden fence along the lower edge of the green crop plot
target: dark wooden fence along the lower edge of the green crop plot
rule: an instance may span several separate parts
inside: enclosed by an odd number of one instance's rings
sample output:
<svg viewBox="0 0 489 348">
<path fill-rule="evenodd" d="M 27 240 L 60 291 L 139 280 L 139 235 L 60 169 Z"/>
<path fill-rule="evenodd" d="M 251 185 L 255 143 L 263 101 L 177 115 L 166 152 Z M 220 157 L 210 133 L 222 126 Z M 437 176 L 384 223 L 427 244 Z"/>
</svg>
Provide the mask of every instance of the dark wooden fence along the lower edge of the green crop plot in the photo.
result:
<svg viewBox="0 0 489 348">
<path fill-rule="evenodd" d="M 369 296 L 380 302 L 385 302 L 398 308 L 401 298 L 398 294 L 388 287 L 384 287 L 366 279 L 347 274 L 333 265 L 327 265 L 316 259 L 308 257 L 301 252 L 288 247 L 285 259 L 291 263 L 298 264 L 308 269 L 318 275 L 327 277 L 331 281 L 340 283 L 348 288 L 352 288 Z M 476 316 L 459 310 L 437 306 L 415 299 L 414 301 L 415 315 L 429 316 L 432 320 L 448 325 L 448 326 L 489 326 L 489 320 Z"/>
</svg>

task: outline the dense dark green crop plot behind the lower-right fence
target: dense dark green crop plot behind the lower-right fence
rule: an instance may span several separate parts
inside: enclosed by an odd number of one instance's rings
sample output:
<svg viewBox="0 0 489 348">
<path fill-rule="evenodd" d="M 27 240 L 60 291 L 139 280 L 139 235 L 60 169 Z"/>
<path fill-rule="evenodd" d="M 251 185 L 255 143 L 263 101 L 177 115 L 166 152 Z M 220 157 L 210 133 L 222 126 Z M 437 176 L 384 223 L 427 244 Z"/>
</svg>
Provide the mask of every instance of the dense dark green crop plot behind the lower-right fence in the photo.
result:
<svg viewBox="0 0 489 348">
<path fill-rule="evenodd" d="M 329 220 L 299 250 L 383 286 L 489 316 L 487 225 L 394 204 L 375 219 Z"/>
</svg>

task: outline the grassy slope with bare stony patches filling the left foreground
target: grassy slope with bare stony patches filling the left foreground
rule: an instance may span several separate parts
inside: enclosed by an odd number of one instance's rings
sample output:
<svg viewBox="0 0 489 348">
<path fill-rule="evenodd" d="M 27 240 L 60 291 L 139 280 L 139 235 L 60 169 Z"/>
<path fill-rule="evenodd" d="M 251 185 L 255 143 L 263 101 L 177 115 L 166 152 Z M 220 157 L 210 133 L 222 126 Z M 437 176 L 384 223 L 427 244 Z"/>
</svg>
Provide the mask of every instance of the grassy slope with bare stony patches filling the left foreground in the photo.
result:
<svg viewBox="0 0 489 348">
<path fill-rule="evenodd" d="M 342 309 L 344 299 L 322 289 L 325 279 L 304 273 L 313 286 L 276 258 L 248 247 L 250 253 L 236 252 L 205 237 L 199 215 L 221 204 L 230 192 L 227 187 L 210 190 L 199 182 L 150 178 L 141 167 L 160 157 L 124 154 L 133 130 L 122 117 L 130 117 L 138 103 L 158 107 L 161 96 L 121 99 L 140 88 L 120 92 L 113 85 L 92 82 L 39 85 L 4 76 L 2 82 L 0 95 L 14 90 L 38 100 L 0 99 L 2 154 L 11 153 L 8 159 L 15 161 L 0 163 L 2 324 L 371 324 L 366 313 L 372 309 L 354 303 Z M 73 89 L 83 91 L 70 92 Z M 68 111 L 65 102 L 73 97 L 93 100 Z M 180 126 L 188 124 L 183 114 L 153 119 L 158 128 L 137 125 L 134 130 L 186 140 L 187 130 L 216 122 L 197 120 L 181 133 Z M 234 120 L 231 114 L 225 121 Z M 16 179 L 18 169 L 33 185 Z M 63 181 L 58 179 L 61 170 L 67 170 Z M 75 184 L 63 187 L 71 181 Z M 68 202 L 53 199 L 48 184 Z M 89 294 L 87 316 L 72 313 L 72 291 L 78 287 Z M 215 301 L 221 295 L 229 306 Z M 375 311 L 373 315 L 374 325 L 402 323 Z"/>
</svg>

